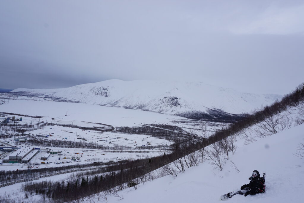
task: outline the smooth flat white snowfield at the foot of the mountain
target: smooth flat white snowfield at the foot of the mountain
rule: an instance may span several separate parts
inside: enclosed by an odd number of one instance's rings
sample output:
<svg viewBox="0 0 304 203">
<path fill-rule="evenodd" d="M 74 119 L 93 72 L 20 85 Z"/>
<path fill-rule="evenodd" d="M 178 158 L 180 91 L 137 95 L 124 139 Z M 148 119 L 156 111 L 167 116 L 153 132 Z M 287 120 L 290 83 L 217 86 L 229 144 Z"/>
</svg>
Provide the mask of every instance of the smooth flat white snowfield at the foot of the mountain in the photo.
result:
<svg viewBox="0 0 304 203">
<path fill-rule="evenodd" d="M 0 112 L 44 116 L 66 121 L 66 124 L 72 124 L 73 122 L 73 124 L 79 124 L 80 126 L 83 126 L 83 122 L 81 121 L 103 123 L 112 126 L 137 126 L 141 123 L 167 124 L 172 123 L 174 119 L 185 119 L 183 117 L 119 107 L 45 100 L 9 100 L 7 104 L 0 105 Z"/>
</svg>

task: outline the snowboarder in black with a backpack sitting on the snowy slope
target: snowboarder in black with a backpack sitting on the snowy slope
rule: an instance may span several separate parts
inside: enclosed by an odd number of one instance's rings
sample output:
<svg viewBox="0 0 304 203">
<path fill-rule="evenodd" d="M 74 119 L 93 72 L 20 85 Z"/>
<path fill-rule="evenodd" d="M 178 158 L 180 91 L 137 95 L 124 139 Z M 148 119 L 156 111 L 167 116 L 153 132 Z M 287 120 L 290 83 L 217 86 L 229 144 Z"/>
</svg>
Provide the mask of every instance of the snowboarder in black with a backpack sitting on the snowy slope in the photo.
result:
<svg viewBox="0 0 304 203">
<path fill-rule="evenodd" d="M 257 193 L 261 193 L 265 191 L 265 180 L 263 177 L 260 177 L 260 173 L 257 170 L 252 172 L 252 176 L 249 178 L 249 184 L 245 184 L 241 187 L 241 190 L 237 191 L 236 193 L 232 194 L 228 193 L 227 196 L 232 198 L 235 194 L 244 194 L 245 197 L 250 194 L 254 195 Z"/>
</svg>

